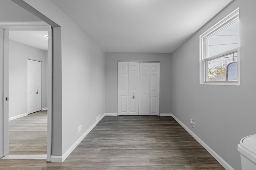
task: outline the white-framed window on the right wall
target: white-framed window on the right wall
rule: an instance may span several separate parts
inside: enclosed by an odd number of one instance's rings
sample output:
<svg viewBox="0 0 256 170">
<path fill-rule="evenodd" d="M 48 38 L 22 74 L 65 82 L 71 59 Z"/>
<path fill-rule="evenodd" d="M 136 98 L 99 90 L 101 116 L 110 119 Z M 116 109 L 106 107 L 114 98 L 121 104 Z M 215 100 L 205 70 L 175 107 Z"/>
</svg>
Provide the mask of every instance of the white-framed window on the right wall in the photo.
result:
<svg viewBox="0 0 256 170">
<path fill-rule="evenodd" d="M 239 8 L 200 35 L 200 84 L 239 85 Z"/>
</svg>

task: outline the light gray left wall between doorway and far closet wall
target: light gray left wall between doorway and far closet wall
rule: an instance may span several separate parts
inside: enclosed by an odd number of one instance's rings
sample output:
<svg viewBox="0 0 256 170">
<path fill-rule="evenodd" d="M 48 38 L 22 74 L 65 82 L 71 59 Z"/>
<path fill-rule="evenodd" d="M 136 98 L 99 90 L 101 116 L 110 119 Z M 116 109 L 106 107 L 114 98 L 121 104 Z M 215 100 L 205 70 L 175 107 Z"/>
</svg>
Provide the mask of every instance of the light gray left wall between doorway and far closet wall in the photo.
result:
<svg viewBox="0 0 256 170">
<path fill-rule="evenodd" d="M 96 117 L 104 114 L 105 53 L 52 1 L 24 1 L 61 27 L 62 124 L 54 131 L 61 131 L 55 138 L 62 141 L 62 149 L 53 148 L 53 155 L 65 156 Z M 77 133 L 79 125 L 82 131 Z M 53 141 L 53 147 L 60 144 Z"/>
</svg>

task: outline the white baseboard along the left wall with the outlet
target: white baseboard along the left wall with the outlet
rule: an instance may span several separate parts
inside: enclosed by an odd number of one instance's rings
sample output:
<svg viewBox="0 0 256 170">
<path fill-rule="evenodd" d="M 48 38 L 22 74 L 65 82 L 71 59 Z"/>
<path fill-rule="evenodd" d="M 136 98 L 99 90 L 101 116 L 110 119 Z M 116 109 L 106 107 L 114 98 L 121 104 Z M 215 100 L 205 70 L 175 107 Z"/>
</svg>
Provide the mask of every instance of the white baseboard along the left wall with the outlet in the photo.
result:
<svg viewBox="0 0 256 170">
<path fill-rule="evenodd" d="M 105 115 L 105 114 L 104 114 Z M 62 156 L 51 156 L 51 162 L 64 162 L 64 160 L 70 155 L 70 153 L 78 146 L 78 144 L 90 133 L 90 131 L 99 123 L 100 114 L 96 117 L 95 123 L 87 129 L 87 131 L 62 155 Z"/>
</svg>

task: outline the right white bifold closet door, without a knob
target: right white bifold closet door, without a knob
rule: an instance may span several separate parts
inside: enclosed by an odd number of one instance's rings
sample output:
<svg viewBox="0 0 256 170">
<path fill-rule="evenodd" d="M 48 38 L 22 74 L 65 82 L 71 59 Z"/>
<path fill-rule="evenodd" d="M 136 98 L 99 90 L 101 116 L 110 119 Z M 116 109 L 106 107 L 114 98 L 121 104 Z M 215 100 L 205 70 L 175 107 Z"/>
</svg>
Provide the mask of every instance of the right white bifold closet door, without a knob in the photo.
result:
<svg viewBox="0 0 256 170">
<path fill-rule="evenodd" d="M 160 63 L 140 63 L 139 115 L 159 115 Z"/>
</svg>

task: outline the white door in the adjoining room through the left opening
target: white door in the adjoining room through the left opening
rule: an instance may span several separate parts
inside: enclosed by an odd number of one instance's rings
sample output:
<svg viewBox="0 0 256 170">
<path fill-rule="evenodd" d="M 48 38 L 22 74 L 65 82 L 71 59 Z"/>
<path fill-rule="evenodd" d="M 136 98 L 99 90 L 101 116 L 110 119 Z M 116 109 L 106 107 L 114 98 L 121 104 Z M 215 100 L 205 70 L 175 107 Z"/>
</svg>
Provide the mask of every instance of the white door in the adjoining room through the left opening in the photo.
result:
<svg viewBox="0 0 256 170">
<path fill-rule="evenodd" d="M 28 114 L 41 108 L 42 63 L 28 59 Z"/>
</svg>

